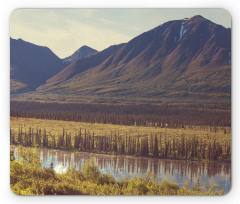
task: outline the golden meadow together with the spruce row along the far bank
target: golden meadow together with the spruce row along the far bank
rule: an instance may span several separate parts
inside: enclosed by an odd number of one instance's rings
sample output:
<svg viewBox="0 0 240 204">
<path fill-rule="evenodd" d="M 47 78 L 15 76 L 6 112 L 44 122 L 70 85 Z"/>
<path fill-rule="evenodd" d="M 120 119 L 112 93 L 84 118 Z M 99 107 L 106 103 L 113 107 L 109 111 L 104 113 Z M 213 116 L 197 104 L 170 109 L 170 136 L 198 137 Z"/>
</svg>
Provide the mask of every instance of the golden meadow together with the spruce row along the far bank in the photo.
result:
<svg viewBox="0 0 240 204">
<path fill-rule="evenodd" d="M 230 128 L 160 128 L 11 118 L 13 145 L 162 159 L 231 161 Z"/>
</svg>

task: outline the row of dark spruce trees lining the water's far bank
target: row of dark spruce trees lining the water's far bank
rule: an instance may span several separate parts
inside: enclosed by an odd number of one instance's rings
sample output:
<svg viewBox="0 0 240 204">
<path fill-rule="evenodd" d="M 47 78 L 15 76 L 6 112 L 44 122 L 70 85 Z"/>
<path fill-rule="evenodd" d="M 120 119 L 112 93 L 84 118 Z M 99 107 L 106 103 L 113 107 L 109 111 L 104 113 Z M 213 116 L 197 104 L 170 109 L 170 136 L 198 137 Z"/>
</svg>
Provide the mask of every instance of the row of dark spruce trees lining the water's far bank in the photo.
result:
<svg viewBox="0 0 240 204">
<path fill-rule="evenodd" d="M 196 136 L 166 138 L 161 134 L 131 137 L 112 132 L 110 135 L 95 135 L 94 132 L 79 129 L 74 135 L 62 130 L 52 135 L 46 129 L 23 129 L 18 132 L 10 129 L 10 142 L 13 145 L 52 149 L 96 152 L 105 154 L 135 155 L 164 159 L 193 159 L 207 161 L 231 161 L 231 141 L 202 140 Z"/>
</svg>

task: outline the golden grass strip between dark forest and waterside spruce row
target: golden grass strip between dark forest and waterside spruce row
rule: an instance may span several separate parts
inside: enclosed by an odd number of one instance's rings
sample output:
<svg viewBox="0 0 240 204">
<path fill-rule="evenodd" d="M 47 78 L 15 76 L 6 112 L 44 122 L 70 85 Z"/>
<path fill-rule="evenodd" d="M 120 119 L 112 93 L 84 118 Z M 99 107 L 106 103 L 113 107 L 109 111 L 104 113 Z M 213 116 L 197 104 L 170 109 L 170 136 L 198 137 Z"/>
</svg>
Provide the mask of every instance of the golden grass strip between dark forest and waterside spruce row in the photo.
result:
<svg viewBox="0 0 240 204">
<path fill-rule="evenodd" d="M 80 128 L 82 129 L 82 133 L 86 129 L 87 132 L 93 133 L 95 136 L 107 136 L 118 134 L 125 136 L 126 134 L 129 136 L 151 136 L 151 134 L 157 133 L 158 136 L 161 134 L 164 138 L 166 136 L 167 139 L 170 138 L 180 138 L 181 136 L 185 136 L 186 138 L 196 137 L 202 138 L 203 141 L 209 141 L 216 139 L 216 141 L 221 142 L 229 142 L 231 141 L 231 128 L 224 127 L 212 128 L 210 127 L 187 127 L 186 129 L 172 129 L 172 128 L 160 128 L 160 127 L 143 127 L 143 126 L 125 126 L 125 125 L 112 125 L 112 124 L 99 124 L 99 123 L 84 123 L 84 122 L 73 122 L 73 121 L 61 121 L 61 120 L 42 120 L 35 118 L 10 118 L 10 126 L 13 133 L 17 134 L 19 124 L 23 125 L 23 131 L 26 129 L 28 131 L 29 127 L 33 129 L 41 128 L 46 129 L 47 134 L 49 132 L 52 135 L 58 136 L 62 134 L 63 128 L 65 131 L 71 133 L 71 135 L 75 135 Z M 226 134 L 224 133 L 224 129 Z"/>
</svg>

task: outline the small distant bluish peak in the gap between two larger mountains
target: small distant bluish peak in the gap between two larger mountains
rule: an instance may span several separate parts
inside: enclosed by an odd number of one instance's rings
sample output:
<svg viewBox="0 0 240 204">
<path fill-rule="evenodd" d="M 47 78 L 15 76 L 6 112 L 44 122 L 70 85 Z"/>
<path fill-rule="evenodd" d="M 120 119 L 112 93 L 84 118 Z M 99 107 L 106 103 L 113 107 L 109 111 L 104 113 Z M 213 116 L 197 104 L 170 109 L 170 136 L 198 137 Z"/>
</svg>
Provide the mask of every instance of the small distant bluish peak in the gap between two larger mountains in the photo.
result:
<svg viewBox="0 0 240 204">
<path fill-rule="evenodd" d="M 94 50 L 91 47 L 84 45 L 84 46 L 80 47 L 76 52 L 74 52 L 71 56 L 64 58 L 63 62 L 66 65 L 69 65 L 78 59 L 83 59 L 85 57 L 88 57 L 89 55 L 96 53 L 96 52 L 97 52 L 97 50 Z"/>
</svg>

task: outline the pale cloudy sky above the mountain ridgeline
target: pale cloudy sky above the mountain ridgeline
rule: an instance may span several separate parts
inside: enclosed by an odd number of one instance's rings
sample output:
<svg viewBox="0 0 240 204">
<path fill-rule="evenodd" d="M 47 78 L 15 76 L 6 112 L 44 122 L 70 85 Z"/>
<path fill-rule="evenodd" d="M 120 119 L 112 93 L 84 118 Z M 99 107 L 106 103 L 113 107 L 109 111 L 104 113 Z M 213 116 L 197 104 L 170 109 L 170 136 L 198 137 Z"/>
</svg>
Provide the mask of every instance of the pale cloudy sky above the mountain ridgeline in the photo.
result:
<svg viewBox="0 0 240 204">
<path fill-rule="evenodd" d="M 224 9 L 17 9 L 10 16 L 10 36 L 47 46 L 65 58 L 83 45 L 101 51 L 195 15 L 231 28 L 231 15 Z"/>
</svg>

